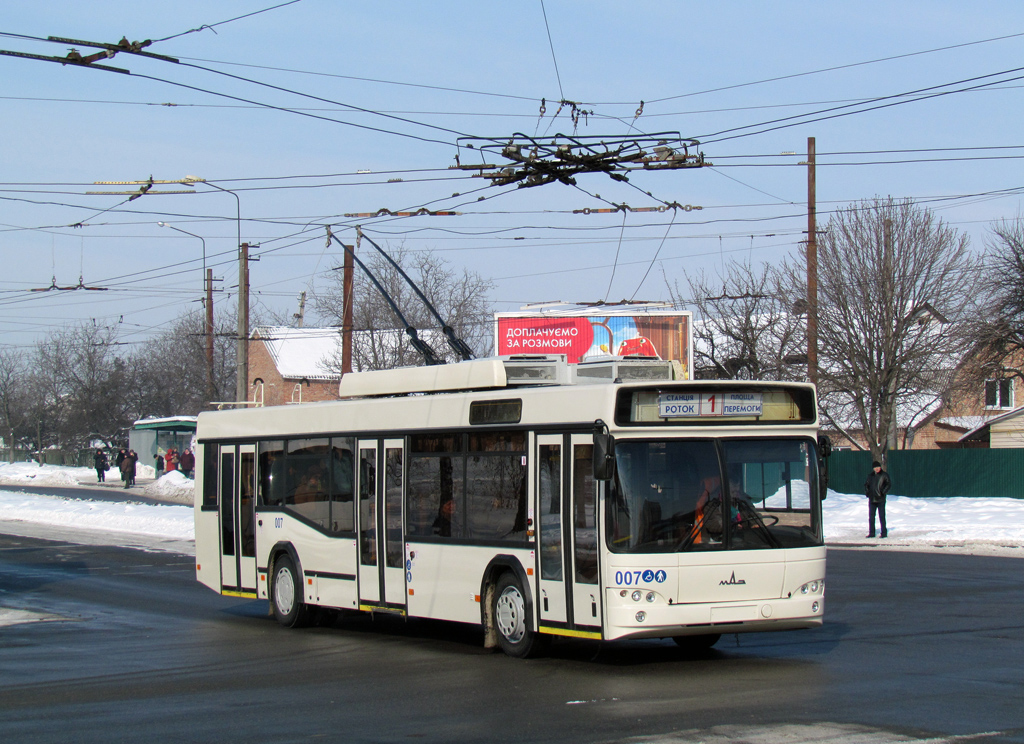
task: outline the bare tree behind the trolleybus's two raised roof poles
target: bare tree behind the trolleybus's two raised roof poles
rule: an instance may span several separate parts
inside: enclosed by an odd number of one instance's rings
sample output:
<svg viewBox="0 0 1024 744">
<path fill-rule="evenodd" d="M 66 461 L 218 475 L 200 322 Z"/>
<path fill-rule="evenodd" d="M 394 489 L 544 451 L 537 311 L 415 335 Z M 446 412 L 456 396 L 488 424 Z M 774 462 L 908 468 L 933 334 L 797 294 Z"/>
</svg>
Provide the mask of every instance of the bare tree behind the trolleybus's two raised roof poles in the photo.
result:
<svg viewBox="0 0 1024 744">
<path fill-rule="evenodd" d="M 383 248 L 417 283 L 437 312 L 478 355 L 490 352 L 493 318 L 487 294 L 494 282 L 479 274 L 459 271 L 431 251 L 409 251 L 404 246 Z M 418 332 L 420 338 L 437 332 L 430 345 L 438 356 L 452 358 L 452 353 L 438 341 L 440 329 L 422 301 L 387 260 L 372 248 L 360 252 L 362 261 L 381 282 L 401 313 Z M 423 358 L 409 344 L 404 327 L 395 316 L 380 291 L 357 266 L 353 275 L 353 343 L 352 365 L 357 369 L 387 369 L 422 364 Z M 332 273 L 328 285 L 312 293 L 313 306 L 323 321 L 341 325 L 344 316 L 342 272 Z M 424 334 L 423 332 L 428 332 Z M 340 369 L 340 361 L 331 362 Z"/>
</svg>

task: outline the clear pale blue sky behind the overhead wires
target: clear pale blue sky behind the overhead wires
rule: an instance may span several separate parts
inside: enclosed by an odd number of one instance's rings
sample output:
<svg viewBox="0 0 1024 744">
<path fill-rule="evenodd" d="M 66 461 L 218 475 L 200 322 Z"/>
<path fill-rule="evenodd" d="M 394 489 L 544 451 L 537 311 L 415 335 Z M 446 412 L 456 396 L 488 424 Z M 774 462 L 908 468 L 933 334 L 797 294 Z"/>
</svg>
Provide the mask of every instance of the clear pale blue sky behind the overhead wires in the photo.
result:
<svg viewBox="0 0 1024 744">
<path fill-rule="evenodd" d="M 55 327 L 88 319 L 119 323 L 123 341 L 141 342 L 198 302 L 202 244 L 158 221 L 206 240 L 208 264 L 224 279 L 216 302 L 234 302 L 238 224 L 230 194 L 200 185 L 191 195 L 121 204 L 126 196 L 86 192 L 134 186 L 94 181 L 198 175 L 238 193 L 242 239 L 260 244 L 253 250 L 260 257 L 252 267 L 254 300 L 285 315 L 296 311 L 299 292 L 322 286 L 341 263 L 335 248 L 325 249 L 325 223 L 339 225 L 346 242 L 358 222 L 378 242 L 441 252 L 495 280 L 499 310 L 551 300 L 666 299 L 665 276 L 685 286 L 684 272 L 714 272 L 728 258 L 778 261 L 796 251 L 806 228 L 807 174 L 798 163 L 808 136 L 817 140 L 822 225 L 830 209 L 855 200 L 910 196 L 969 233 L 980 252 L 991 222 L 1020 211 L 1018 190 L 972 194 L 1024 188 L 1024 78 L 1014 80 L 1024 71 L 935 89 L 997 83 L 976 91 L 715 136 L 1022 67 L 1024 5 L 1017 2 L 301 0 L 180 35 L 274 4 L 6 0 L 0 6 L 4 34 L 166 39 L 147 51 L 206 68 L 124 54 L 100 62 L 129 76 L 0 56 L 0 344 L 26 348 Z M 0 37 L 0 49 L 33 54 L 63 56 L 70 46 Z M 954 48 L 930 51 L 942 47 Z M 897 58 L 858 64 L 888 57 Z M 829 68 L 842 69 L 815 72 Z M 781 79 L 760 82 L 774 78 Z M 584 175 L 585 190 L 554 183 L 474 191 L 486 182 L 446 170 L 456 133 L 570 133 L 566 111 L 552 118 L 560 98 L 593 112 L 580 121 L 580 135 L 679 132 L 702 139 L 715 167 L 638 172 L 632 185 Z M 643 113 L 635 118 L 641 100 Z M 882 102 L 896 100 L 906 99 Z M 953 149 L 959 147 L 972 149 Z M 1002 149 L 980 149 L 994 147 Z M 926 149 L 936 151 L 893 151 Z M 797 155 L 780 156 L 787 151 Z M 396 178 L 402 180 L 389 182 Z M 674 220 L 671 212 L 630 213 L 625 226 L 623 214 L 572 214 L 607 206 L 587 192 L 656 206 L 644 191 L 703 209 Z M 477 202 L 481 195 L 489 199 Z M 344 217 L 422 205 L 464 214 Z M 59 286 L 77 285 L 81 275 L 86 286 L 111 291 L 27 292 L 49 286 L 53 275 Z"/>
</svg>

